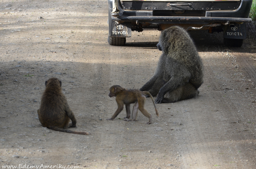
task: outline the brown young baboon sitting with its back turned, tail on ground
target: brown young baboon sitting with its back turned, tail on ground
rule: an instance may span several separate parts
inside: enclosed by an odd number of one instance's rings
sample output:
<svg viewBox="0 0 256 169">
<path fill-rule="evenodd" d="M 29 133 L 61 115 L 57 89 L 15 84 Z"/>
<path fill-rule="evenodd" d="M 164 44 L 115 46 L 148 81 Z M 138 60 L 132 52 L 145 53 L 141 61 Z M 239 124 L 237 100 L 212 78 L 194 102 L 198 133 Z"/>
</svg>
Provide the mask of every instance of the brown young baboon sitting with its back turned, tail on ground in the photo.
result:
<svg viewBox="0 0 256 169">
<path fill-rule="evenodd" d="M 38 109 L 39 121 L 43 127 L 66 133 L 88 135 L 89 132 L 75 132 L 66 128 L 76 127 L 77 120 L 70 110 L 67 99 L 62 93 L 61 81 L 53 77 L 45 81 L 46 89 L 43 92 L 40 109 Z M 69 121 L 72 121 L 72 124 Z"/>
</svg>

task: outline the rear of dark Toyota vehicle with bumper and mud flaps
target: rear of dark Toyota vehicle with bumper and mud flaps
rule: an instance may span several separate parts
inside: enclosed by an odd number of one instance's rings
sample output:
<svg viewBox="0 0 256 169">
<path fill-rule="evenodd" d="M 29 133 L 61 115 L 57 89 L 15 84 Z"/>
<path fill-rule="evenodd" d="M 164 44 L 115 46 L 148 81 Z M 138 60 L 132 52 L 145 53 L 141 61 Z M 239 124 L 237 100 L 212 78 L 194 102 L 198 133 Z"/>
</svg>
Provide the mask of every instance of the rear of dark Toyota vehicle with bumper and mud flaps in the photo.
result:
<svg viewBox="0 0 256 169">
<path fill-rule="evenodd" d="M 241 47 L 253 0 L 108 0 L 110 45 L 125 45 L 131 31 L 173 25 L 192 30 L 223 32 L 228 47 Z"/>
</svg>

